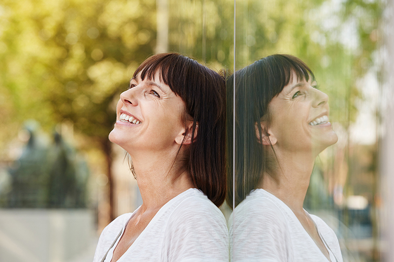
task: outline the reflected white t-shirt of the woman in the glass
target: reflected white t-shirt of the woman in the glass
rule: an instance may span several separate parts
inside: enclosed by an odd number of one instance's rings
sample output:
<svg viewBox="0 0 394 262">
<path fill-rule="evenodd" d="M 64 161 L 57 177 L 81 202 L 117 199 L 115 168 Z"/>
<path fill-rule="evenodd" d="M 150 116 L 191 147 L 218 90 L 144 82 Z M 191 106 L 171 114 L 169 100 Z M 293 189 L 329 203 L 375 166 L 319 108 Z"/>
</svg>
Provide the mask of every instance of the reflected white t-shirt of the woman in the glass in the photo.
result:
<svg viewBox="0 0 394 262">
<path fill-rule="evenodd" d="M 338 238 L 319 217 L 310 215 L 324 239 L 331 262 L 343 262 Z M 234 262 L 327 262 L 294 212 L 263 189 L 252 191 L 230 215 L 230 257 Z M 234 243 L 233 243 L 234 241 Z"/>
</svg>

